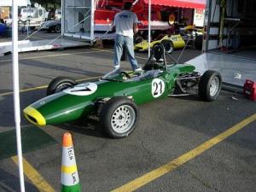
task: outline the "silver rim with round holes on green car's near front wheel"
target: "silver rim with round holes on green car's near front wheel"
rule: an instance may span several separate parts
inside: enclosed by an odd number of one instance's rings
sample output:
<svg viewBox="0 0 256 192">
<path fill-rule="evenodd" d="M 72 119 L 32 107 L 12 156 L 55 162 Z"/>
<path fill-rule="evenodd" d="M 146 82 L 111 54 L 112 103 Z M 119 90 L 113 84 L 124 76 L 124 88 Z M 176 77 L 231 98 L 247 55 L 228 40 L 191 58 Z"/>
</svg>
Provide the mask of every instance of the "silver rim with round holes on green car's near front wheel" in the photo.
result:
<svg viewBox="0 0 256 192">
<path fill-rule="evenodd" d="M 129 105 L 122 105 L 117 108 L 111 117 L 111 126 L 117 133 L 129 131 L 135 122 L 135 110 Z"/>
</svg>

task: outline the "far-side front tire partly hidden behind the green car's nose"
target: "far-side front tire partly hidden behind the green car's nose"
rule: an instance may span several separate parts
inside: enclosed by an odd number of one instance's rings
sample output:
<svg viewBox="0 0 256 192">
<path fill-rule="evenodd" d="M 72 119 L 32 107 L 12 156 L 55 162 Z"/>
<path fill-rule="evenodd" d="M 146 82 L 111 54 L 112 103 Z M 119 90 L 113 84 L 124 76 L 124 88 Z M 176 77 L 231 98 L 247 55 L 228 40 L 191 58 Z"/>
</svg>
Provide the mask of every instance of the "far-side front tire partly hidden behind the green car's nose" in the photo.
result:
<svg viewBox="0 0 256 192">
<path fill-rule="evenodd" d="M 65 90 L 69 87 L 73 87 L 76 84 L 74 79 L 66 78 L 66 77 L 58 77 L 53 79 L 46 90 L 46 95 L 50 96 L 61 90 Z"/>
</svg>

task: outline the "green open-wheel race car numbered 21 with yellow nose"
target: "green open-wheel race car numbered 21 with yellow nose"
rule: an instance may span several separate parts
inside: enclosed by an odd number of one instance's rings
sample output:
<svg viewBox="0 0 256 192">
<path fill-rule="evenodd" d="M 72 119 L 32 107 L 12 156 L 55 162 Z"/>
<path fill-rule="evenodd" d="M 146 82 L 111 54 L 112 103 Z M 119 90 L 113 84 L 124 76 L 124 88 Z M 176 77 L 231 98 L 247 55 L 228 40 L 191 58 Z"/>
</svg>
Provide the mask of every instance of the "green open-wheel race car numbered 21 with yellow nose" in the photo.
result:
<svg viewBox="0 0 256 192">
<path fill-rule="evenodd" d="M 68 78 L 53 79 L 48 96 L 25 108 L 24 114 L 39 126 L 96 115 L 109 137 L 127 137 L 137 126 L 137 105 L 188 94 L 198 94 L 211 102 L 217 99 L 221 84 L 218 72 L 209 70 L 201 74 L 191 65 L 175 61 L 167 64 L 165 48 L 158 45 L 139 73 L 119 68 L 96 82 L 82 84 Z"/>
</svg>

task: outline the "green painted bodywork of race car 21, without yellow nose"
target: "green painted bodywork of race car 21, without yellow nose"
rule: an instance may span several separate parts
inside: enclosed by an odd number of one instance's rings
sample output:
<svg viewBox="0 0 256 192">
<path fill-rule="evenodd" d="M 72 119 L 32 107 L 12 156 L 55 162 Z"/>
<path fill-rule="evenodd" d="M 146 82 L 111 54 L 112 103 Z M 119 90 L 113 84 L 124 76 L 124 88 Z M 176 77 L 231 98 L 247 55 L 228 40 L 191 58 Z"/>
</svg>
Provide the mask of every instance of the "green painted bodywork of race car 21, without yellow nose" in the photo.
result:
<svg viewBox="0 0 256 192">
<path fill-rule="evenodd" d="M 167 66 L 167 70 L 164 70 L 157 77 L 157 79 L 163 80 L 166 87 L 162 95 L 157 98 L 152 95 L 152 78 L 126 81 L 124 75 L 118 74 L 110 80 L 94 82 L 97 84 L 97 90 L 89 96 L 74 96 L 60 92 L 33 103 L 31 107 L 44 116 L 46 125 L 61 124 L 95 113 L 96 101 L 103 98 L 132 96 L 137 105 L 165 98 L 175 88 L 175 79 L 178 75 L 193 72 L 194 70 L 195 67 L 185 64 Z"/>
</svg>

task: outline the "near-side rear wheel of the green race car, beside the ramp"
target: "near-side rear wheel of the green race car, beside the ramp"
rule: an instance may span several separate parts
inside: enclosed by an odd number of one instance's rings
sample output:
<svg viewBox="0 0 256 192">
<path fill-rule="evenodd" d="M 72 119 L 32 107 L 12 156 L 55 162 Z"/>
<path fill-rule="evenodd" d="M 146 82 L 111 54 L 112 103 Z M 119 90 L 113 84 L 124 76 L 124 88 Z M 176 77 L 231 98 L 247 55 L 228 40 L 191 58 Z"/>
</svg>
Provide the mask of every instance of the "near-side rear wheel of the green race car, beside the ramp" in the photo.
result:
<svg viewBox="0 0 256 192">
<path fill-rule="evenodd" d="M 221 90 L 222 79 L 220 73 L 208 70 L 201 76 L 198 84 L 198 94 L 204 101 L 215 101 Z"/>
</svg>

